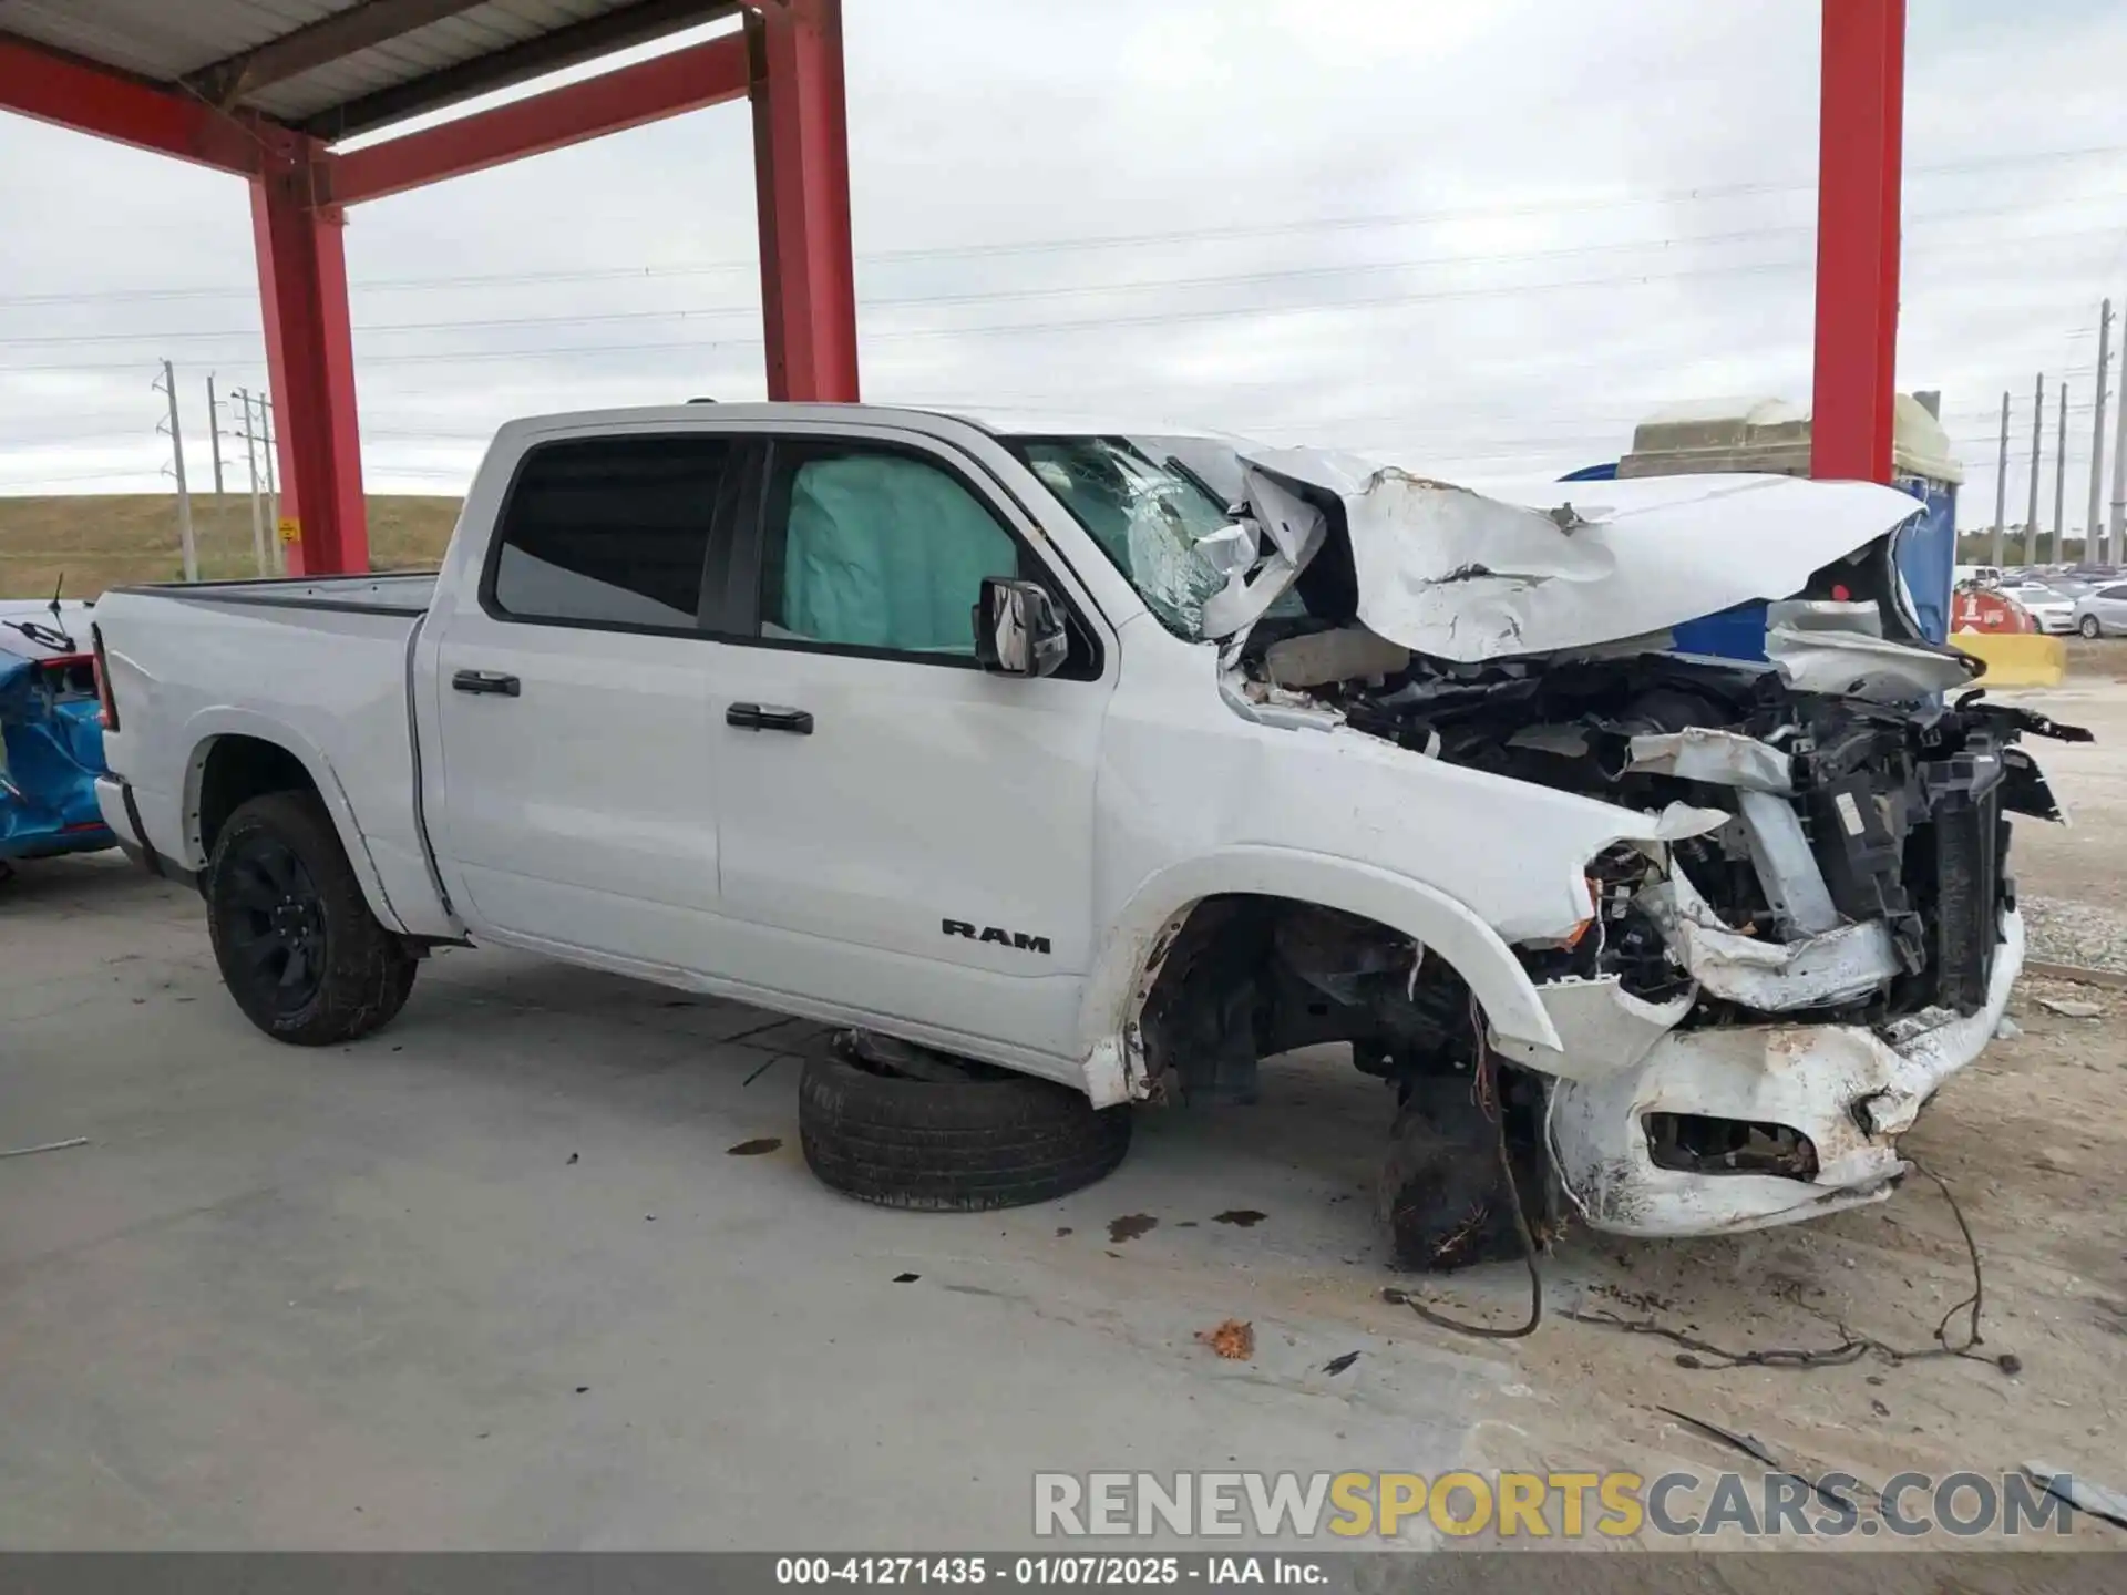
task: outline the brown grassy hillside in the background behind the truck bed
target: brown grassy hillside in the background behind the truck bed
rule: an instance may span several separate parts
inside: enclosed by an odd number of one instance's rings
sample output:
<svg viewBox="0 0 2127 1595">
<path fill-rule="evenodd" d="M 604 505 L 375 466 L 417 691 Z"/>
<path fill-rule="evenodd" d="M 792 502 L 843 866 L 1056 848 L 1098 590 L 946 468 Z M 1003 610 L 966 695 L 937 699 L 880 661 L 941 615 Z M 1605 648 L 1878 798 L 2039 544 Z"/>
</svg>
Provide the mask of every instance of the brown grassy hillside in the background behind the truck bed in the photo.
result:
<svg viewBox="0 0 2127 1595">
<path fill-rule="evenodd" d="M 370 496 L 370 566 L 434 566 L 457 521 L 455 498 Z M 266 527 L 272 536 L 272 527 Z M 255 576 L 249 493 L 194 493 L 191 534 L 208 581 Z M 106 587 L 183 581 L 177 500 L 168 493 L 0 498 L 0 598 L 68 598 Z"/>
</svg>

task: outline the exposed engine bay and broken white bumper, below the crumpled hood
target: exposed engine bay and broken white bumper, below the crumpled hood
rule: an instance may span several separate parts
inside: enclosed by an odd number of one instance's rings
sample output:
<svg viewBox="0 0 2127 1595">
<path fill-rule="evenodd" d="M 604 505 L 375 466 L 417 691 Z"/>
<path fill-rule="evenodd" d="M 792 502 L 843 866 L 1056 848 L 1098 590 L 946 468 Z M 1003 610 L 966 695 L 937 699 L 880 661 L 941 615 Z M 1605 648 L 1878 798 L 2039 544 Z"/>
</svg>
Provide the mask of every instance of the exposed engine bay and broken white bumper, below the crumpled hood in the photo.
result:
<svg viewBox="0 0 2127 1595">
<path fill-rule="evenodd" d="M 2019 738 L 2061 727 L 1976 691 L 1878 702 L 1674 655 L 1414 664 L 1336 693 L 1427 757 L 1729 812 L 1593 859 L 1591 919 L 1517 948 L 1561 1051 L 1495 1046 L 1553 1076 L 1546 1148 L 1593 1225 L 1746 1229 L 1889 1191 L 1897 1136 L 2008 1002 L 2008 815 L 2059 817 Z"/>
</svg>

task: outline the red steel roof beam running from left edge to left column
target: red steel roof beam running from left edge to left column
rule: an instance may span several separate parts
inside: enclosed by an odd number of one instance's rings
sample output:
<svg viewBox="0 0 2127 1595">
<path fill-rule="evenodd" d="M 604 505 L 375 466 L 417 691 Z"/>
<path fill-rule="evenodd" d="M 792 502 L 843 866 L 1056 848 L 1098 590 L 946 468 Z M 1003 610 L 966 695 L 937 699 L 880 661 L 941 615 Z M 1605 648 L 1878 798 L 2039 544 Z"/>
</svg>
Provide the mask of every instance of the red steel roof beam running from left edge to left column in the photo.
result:
<svg viewBox="0 0 2127 1595">
<path fill-rule="evenodd" d="M 0 111 L 17 111 L 221 172 L 251 177 L 259 170 L 259 136 L 251 121 L 213 111 L 177 89 L 4 34 L 0 34 Z"/>
</svg>

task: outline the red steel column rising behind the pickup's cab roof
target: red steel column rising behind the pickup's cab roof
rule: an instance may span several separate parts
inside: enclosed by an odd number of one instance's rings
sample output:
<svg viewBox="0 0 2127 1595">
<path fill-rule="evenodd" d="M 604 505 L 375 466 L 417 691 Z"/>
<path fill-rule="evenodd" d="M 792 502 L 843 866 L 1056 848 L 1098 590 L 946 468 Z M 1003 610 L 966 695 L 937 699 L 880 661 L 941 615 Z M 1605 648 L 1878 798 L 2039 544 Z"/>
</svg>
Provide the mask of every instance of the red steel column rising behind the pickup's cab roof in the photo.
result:
<svg viewBox="0 0 2127 1595">
<path fill-rule="evenodd" d="M 857 398 L 842 0 L 747 13 L 768 398 Z"/>
</svg>

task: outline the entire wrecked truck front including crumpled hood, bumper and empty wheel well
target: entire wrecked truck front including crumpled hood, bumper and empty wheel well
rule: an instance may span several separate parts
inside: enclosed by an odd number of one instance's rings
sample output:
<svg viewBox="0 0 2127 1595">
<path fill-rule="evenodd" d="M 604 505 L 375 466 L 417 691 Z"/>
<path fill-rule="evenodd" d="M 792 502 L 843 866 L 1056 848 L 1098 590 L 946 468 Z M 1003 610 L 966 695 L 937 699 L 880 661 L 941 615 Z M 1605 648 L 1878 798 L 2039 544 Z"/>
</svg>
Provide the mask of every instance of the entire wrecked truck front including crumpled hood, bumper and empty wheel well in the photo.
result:
<svg viewBox="0 0 2127 1595">
<path fill-rule="evenodd" d="M 1236 712 L 1704 823 L 1589 859 L 1587 919 L 1514 946 L 1557 1048 L 1478 1034 L 1457 972 L 1408 938 L 1240 900 L 1183 931 L 1142 1017 L 1153 1061 L 1246 1095 L 1255 1057 L 1353 1042 L 1397 1087 L 1383 1210 L 1423 1267 L 1512 1246 L 1500 1127 L 1531 1214 L 1621 1233 L 1887 1195 L 1897 1138 L 1987 1044 L 2023 961 L 2008 815 L 2061 810 L 2021 738 L 2087 740 L 1987 702 L 1976 661 L 1921 640 L 1893 561 L 1914 506 L 1727 478 L 1542 510 L 1278 464 L 1251 466 L 1276 489 L 1255 513 L 1283 521 L 1263 547 L 1321 553 L 1287 583 L 1302 604 L 1257 598 L 1227 632 Z M 1223 549 L 1229 606 L 1270 559 Z M 1761 664 L 1663 651 L 1670 625 L 1780 593 Z"/>
</svg>

